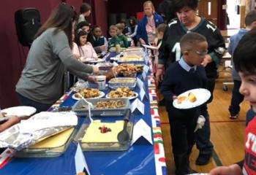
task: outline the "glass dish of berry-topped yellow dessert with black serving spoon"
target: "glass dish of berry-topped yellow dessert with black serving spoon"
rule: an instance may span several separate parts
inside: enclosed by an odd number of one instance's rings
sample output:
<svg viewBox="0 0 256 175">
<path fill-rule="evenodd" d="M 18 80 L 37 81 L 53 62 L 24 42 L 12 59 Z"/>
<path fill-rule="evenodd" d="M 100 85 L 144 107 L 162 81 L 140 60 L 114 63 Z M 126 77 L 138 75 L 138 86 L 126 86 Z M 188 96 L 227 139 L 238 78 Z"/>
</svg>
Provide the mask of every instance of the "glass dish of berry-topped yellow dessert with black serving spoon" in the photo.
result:
<svg viewBox="0 0 256 175">
<path fill-rule="evenodd" d="M 83 151 L 124 151 L 129 149 L 132 141 L 134 116 L 127 110 L 119 120 L 94 118 L 91 122 L 86 117 L 85 123 L 80 127 L 75 141 L 80 143 Z M 129 121 L 128 121 L 129 120 Z M 128 121 L 128 122 L 127 122 Z M 120 139 L 120 133 L 127 131 L 124 140 Z M 118 136 L 119 135 L 119 136 Z M 118 139 L 119 137 L 119 139 Z"/>
</svg>

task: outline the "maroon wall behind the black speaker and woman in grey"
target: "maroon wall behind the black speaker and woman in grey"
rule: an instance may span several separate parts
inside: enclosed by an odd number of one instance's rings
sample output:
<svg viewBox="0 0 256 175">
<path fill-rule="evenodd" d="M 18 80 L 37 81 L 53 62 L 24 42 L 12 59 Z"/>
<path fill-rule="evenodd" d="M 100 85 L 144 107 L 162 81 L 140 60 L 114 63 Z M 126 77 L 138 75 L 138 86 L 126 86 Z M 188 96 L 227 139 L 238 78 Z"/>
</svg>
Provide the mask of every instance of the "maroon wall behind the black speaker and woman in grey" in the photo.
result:
<svg viewBox="0 0 256 175">
<path fill-rule="evenodd" d="M 15 85 L 20 78 L 20 73 L 23 70 L 23 66 L 26 63 L 26 55 L 28 53 L 27 47 L 22 47 L 18 43 L 18 38 L 15 31 L 14 13 L 18 9 L 23 8 L 36 8 L 39 9 L 41 15 L 41 23 L 50 15 L 51 10 L 56 7 L 61 0 L 43 0 L 43 1 L 31 1 L 31 0 L 8 0 L 1 1 L 0 11 L 0 107 L 1 109 L 17 105 L 15 99 Z M 102 28 L 107 28 L 106 18 L 106 1 L 105 0 L 93 0 L 86 1 L 90 4 L 95 4 L 96 8 L 92 9 L 92 15 L 89 20 L 95 18 Z M 68 4 L 75 7 L 79 12 L 80 4 L 82 0 L 67 0 Z M 99 12 L 96 15 L 95 12 Z M 96 15 L 95 17 L 93 15 Z"/>
</svg>

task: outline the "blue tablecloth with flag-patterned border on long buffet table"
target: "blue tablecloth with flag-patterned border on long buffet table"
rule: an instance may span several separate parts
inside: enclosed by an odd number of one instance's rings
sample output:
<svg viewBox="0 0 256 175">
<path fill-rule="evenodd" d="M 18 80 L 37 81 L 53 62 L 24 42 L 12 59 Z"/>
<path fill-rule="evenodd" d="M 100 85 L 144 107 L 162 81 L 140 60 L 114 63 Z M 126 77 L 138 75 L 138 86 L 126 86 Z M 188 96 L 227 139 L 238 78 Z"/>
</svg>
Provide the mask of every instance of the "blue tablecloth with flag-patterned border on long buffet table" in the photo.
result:
<svg viewBox="0 0 256 175">
<path fill-rule="evenodd" d="M 154 144 L 134 144 L 127 151 L 119 152 L 83 152 L 91 175 L 103 174 L 167 174 L 162 132 L 157 108 L 157 94 L 154 77 L 148 74 L 148 81 L 144 81 L 149 99 L 144 98 L 145 114 L 135 114 L 135 122 L 143 119 L 151 127 Z M 108 93 L 109 90 L 105 90 Z M 138 87 L 135 91 L 139 91 Z M 75 100 L 72 93 L 62 96 L 53 106 L 72 106 Z M 77 127 L 83 123 L 79 118 Z M 12 158 L 0 174 L 7 175 L 50 175 L 75 174 L 75 151 L 77 144 L 72 142 L 67 151 L 57 158 Z"/>
</svg>

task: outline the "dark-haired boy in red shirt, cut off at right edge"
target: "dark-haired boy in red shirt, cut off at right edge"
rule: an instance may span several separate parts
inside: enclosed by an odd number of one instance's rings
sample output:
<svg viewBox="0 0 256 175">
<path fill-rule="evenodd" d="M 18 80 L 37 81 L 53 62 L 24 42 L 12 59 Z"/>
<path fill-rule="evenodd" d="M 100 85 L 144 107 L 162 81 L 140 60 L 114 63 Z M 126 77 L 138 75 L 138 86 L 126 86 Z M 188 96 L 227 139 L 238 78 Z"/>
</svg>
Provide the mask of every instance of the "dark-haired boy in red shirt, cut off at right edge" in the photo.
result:
<svg viewBox="0 0 256 175">
<path fill-rule="evenodd" d="M 241 77 L 239 92 L 256 112 L 256 29 L 247 32 L 241 38 L 233 54 L 236 71 Z M 231 166 L 214 168 L 211 175 L 256 174 L 256 117 L 246 126 L 244 139 L 244 160 Z"/>
</svg>

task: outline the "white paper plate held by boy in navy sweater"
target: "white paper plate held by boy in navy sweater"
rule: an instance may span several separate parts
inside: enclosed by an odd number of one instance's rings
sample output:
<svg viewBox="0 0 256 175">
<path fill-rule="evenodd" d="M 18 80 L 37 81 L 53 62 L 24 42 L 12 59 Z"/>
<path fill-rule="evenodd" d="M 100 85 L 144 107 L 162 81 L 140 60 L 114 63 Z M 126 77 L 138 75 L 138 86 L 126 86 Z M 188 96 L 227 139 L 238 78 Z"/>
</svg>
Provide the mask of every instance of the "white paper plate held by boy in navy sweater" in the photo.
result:
<svg viewBox="0 0 256 175">
<path fill-rule="evenodd" d="M 181 104 L 178 104 L 178 100 L 175 99 L 173 101 L 173 106 L 178 109 L 190 109 L 196 106 L 200 106 L 201 104 L 208 101 L 208 99 L 211 97 L 211 93 L 209 90 L 203 89 L 203 88 L 197 88 L 192 90 L 187 90 L 184 93 L 181 93 L 179 96 L 188 96 L 189 93 L 193 93 L 197 100 L 195 102 L 190 102 L 188 99 L 181 102 Z M 179 97 L 178 96 L 178 97 Z"/>
</svg>

